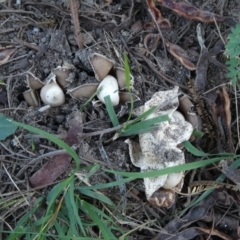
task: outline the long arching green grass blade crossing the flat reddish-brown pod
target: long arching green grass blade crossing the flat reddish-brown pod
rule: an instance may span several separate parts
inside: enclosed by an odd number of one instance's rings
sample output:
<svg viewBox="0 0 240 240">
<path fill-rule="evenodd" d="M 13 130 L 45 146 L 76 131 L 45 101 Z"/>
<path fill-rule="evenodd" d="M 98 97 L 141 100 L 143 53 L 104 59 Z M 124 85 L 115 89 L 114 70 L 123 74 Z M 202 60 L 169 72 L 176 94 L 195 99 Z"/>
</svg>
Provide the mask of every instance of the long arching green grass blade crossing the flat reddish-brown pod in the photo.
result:
<svg viewBox="0 0 240 240">
<path fill-rule="evenodd" d="M 57 144 L 60 148 L 66 150 L 66 152 L 74 159 L 74 161 L 76 163 L 76 169 L 79 169 L 80 159 L 79 159 L 77 153 L 68 144 L 66 144 L 65 142 L 63 142 L 59 138 L 53 136 L 50 133 L 47 133 L 47 132 L 41 130 L 41 129 L 32 127 L 32 126 L 24 124 L 24 123 L 16 122 L 16 121 L 13 121 L 11 119 L 8 119 L 8 121 L 17 125 L 17 126 L 19 126 L 19 127 L 22 127 L 24 129 L 28 130 L 29 132 L 34 132 L 36 134 L 39 134 L 39 135 L 45 137 L 46 139 L 48 139 L 49 141 Z"/>
</svg>

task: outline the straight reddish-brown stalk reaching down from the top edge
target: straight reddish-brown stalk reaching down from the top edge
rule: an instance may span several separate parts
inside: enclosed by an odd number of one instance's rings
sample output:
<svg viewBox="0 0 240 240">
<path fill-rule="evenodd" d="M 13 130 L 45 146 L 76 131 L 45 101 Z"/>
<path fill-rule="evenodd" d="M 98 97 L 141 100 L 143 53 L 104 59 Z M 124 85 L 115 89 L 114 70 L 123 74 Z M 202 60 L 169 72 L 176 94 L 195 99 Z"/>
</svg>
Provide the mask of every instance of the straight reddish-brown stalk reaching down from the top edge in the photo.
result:
<svg viewBox="0 0 240 240">
<path fill-rule="evenodd" d="M 82 48 L 84 48 L 84 45 L 83 45 L 83 38 L 81 35 L 81 27 L 80 27 L 80 23 L 79 23 L 79 19 L 78 19 L 79 7 L 80 7 L 80 5 L 79 5 L 78 0 L 70 0 L 70 9 L 72 12 L 72 19 L 73 19 L 76 40 L 77 40 L 79 49 L 82 49 Z"/>
</svg>

